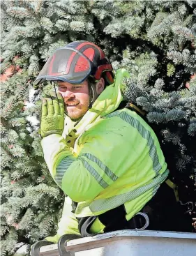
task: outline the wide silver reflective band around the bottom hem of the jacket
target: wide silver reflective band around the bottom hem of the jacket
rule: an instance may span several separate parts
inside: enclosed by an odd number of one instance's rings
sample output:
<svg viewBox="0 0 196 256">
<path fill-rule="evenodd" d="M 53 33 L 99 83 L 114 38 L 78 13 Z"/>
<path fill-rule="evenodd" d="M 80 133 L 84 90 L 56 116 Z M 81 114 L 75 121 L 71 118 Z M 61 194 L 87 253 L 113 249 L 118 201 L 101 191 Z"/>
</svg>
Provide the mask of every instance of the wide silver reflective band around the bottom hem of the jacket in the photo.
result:
<svg viewBox="0 0 196 256">
<path fill-rule="evenodd" d="M 154 188 L 152 192 L 152 194 L 154 194 L 159 188 L 160 183 L 165 181 L 168 174 L 169 170 L 166 170 L 162 175 L 156 176 L 151 183 L 142 186 L 142 188 L 136 188 L 133 191 L 128 191 L 127 193 L 123 193 L 121 195 L 114 195 L 113 197 L 96 199 L 91 203 L 86 202 L 86 204 L 79 204 L 77 206 L 76 214 L 82 213 L 83 210 L 85 211 L 86 207 L 89 207 L 89 209 L 93 213 L 96 213 L 98 211 L 109 211 L 110 209 L 114 209 L 121 204 L 125 204 L 126 202 L 139 197 L 151 188 Z"/>
</svg>

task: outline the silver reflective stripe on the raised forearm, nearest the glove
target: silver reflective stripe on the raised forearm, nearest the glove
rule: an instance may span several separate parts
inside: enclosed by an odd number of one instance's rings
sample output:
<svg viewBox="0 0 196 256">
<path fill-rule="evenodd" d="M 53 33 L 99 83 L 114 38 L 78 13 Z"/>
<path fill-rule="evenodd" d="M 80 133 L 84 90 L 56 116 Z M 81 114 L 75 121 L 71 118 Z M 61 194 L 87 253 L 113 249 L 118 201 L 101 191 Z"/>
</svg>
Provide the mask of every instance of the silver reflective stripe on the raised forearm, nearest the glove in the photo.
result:
<svg viewBox="0 0 196 256">
<path fill-rule="evenodd" d="M 66 158 L 63 158 L 59 165 L 56 167 L 56 174 L 54 176 L 54 181 L 62 187 L 62 179 L 63 175 L 66 173 L 68 170 L 68 167 L 75 161 L 75 158 L 73 156 L 67 156 Z"/>
</svg>

